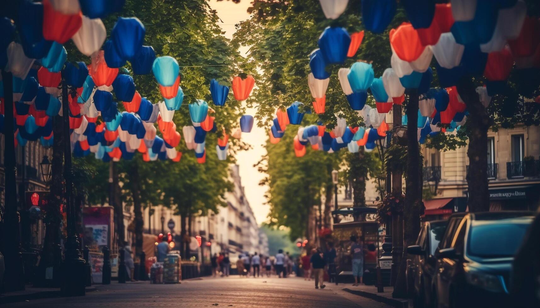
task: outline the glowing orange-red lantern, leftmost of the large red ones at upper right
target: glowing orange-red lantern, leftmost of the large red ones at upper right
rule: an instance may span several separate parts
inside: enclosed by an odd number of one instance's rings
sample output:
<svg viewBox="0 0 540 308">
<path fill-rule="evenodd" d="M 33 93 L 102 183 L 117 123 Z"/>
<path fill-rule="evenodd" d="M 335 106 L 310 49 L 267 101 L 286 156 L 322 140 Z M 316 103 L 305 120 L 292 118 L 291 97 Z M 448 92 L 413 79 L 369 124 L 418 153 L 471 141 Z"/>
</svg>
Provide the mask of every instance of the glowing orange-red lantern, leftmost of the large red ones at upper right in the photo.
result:
<svg viewBox="0 0 540 308">
<path fill-rule="evenodd" d="M 410 23 L 402 23 L 397 29 L 390 30 L 390 45 L 397 57 L 407 62 L 418 59 L 426 49 Z"/>
</svg>

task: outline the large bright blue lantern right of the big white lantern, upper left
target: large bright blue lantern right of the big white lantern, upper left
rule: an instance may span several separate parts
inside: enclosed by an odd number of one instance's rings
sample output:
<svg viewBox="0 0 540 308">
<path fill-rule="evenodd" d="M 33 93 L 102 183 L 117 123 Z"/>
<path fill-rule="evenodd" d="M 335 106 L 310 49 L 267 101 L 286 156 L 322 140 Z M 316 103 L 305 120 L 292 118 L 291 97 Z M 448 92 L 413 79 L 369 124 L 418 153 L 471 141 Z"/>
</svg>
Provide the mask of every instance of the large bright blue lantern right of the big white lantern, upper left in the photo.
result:
<svg viewBox="0 0 540 308">
<path fill-rule="evenodd" d="M 143 46 L 146 29 L 137 17 L 118 17 L 111 39 L 122 59 L 131 60 Z"/>
</svg>

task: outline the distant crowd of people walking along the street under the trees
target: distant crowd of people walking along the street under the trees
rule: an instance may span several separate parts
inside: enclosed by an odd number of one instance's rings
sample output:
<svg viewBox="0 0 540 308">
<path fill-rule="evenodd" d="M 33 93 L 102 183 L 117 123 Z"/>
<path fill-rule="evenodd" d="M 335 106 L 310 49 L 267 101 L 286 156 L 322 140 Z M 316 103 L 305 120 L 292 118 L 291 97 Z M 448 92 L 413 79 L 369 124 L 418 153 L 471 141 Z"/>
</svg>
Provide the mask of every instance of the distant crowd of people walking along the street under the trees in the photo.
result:
<svg viewBox="0 0 540 308">
<path fill-rule="evenodd" d="M 350 256 L 354 276 L 353 286 L 362 283 L 364 250 L 360 237 L 350 237 Z M 289 252 L 278 250 L 275 256 L 259 255 L 257 252 L 239 255 L 236 267 L 240 277 L 272 277 L 286 278 L 291 275 L 302 277 L 304 280 L 315 280 L 315 289 L 324 289 L 326 285 L 325 274 L 329 282 L 336 279 L 336 249 L 333 242 L 326 243 L 326 250 L 313 248 L 307 250 L 301 257 L 293 259 Z M 212 275 L 214 277 L 228 277 L 230 275 L 231 261 L 226 252 L 214 254 L 211 257 Z"/>
</svg>

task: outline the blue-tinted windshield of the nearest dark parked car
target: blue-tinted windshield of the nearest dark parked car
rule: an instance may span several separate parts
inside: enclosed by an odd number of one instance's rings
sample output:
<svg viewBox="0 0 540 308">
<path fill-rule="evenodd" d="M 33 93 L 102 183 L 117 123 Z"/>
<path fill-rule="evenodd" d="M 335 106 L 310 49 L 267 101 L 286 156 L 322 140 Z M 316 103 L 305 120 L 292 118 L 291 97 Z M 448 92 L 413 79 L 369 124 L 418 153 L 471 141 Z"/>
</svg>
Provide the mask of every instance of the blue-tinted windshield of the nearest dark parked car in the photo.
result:
<svg viewBox="0 0 540 308">
<path fill-rule="evenodd" d="M 468 254 L 483 258 L 512 257 L 532 220 L 484 221 L 473 225 Z"/>
</svg>

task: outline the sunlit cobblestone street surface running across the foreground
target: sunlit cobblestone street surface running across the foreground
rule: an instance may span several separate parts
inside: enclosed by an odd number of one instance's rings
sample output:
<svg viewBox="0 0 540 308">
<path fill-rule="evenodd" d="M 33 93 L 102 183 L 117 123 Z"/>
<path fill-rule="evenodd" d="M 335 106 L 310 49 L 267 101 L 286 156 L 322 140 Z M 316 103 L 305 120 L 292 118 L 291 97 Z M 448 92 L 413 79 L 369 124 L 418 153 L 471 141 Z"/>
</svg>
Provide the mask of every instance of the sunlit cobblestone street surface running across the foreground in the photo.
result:
<svg viewBox="0 0 540 308">
<path fill-rule="evenodd" d="M 203 278 L 181 284 L 126 283 L 96 285 L 84 297 L 48 298 L 9 304 L 10 307 L 365 307 L 388 305 L 352 295 L 327 284 L 315 289 L 303 278 Z M 353 287 L 354 288 L 354 287 Z"/>
</svg>

